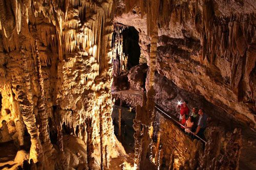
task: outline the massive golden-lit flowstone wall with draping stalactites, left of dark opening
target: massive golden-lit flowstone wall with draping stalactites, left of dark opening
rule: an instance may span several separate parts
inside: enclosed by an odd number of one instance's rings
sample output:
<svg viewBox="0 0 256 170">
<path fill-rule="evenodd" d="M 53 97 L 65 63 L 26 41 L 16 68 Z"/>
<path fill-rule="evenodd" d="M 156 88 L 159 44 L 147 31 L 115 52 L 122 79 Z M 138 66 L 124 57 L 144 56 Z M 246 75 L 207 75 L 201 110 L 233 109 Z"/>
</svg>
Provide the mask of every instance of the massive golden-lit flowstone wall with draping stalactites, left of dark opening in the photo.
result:
<svg viewBox="0 0 256 170">
<path fill-rule="evenodd" d="M 118 155 L 111 119 L 112 3 L 0 3 L 1 142 L 14 141 L 25 148 L 24 159 L 44 169 L 103 168 Z M 63 136 L 70 134 L 85 143 L 85 153 L 65 148 Z M 68 163 L 70 156 L 77 161 Z"/>
</svg>

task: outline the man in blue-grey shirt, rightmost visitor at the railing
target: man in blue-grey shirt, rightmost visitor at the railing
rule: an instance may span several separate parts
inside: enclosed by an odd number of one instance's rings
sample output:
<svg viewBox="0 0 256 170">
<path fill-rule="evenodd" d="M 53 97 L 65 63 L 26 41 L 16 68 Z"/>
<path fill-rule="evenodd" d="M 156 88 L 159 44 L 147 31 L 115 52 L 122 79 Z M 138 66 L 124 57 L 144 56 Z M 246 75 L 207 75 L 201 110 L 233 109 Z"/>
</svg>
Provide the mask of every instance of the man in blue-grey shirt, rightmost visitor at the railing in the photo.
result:
<svg viewBox="0 0 256 170">
<path fill-rule="evenodd" d="M 197 130 L 194 135 L 199 136 L 200 138 L 204 139 L 204 130 L 206 128 L 206 123 L 207 123 L 207 115 L 204 113 L 203 109 L 200 109 L 198 111 L 199 119 L 198 119 L 198 124 L 197 124 Z"/>
</svg>

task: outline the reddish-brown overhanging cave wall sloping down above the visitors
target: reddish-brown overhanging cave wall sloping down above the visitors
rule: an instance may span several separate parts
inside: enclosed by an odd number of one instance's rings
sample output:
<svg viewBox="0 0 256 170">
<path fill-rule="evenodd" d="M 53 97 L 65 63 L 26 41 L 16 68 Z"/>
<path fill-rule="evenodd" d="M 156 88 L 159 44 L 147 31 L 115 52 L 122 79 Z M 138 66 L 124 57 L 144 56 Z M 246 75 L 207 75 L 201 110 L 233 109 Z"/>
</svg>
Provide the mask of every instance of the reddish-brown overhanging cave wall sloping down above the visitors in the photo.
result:
<svg viewBox="0 0 256 170">
<path fill-rule="evenodd" d="M 147 15 L 156 2 L 121 2 L 123 6 L 116 1 L 119 6 L 114 20 L 150 35 L 148 26 L 153 20 Z M 254 128 L 255 3 L 249 0 L 158 3 L 159 13 L 153 14 L 158 24 L 157 72 L 178 87 L 203 95 L 230 116 Z M 147 23 L 146 28 L 141 27 L 143 22 Z M 151 36 L 147 37 L 151 40 Z M 147 57 L 148 65 L 149 60 Z"/>
</svg>

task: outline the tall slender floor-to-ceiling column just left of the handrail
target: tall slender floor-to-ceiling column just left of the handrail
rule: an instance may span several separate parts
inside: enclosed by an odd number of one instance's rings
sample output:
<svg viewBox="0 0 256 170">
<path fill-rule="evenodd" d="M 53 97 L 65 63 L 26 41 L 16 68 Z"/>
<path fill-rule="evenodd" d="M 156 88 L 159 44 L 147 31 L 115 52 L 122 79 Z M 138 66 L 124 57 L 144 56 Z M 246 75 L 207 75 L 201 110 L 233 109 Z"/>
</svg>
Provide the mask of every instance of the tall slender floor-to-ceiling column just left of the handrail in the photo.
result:
<svg viewBox="0 0 256 170">
<path fill-rule="evenodd" d="M 155 110 L 155 71 L 156 71 L 156 55 L 157 55 L 157 42 L 158 42 L 158 14 L 160 1 L 150 0 L 146 2 L 147 5 L 147 32 L 151 37 L 151 48 L 150 48 L 150 58 L 148 60 L 148 72 L 147 72 L 147 83 L 146 83 L 146 104 L 143 104 L 145 114 L 142 114 L 141 122 L 145 126 L 143 138 L 141 140 L 141 158 L 140 158 L 140 168 L 144 167 L 146 163 L 146 155 L 148 152 L 148 146 L 153 142 L 152 135 L 150 135 L 150 130 L 152 131 L 152 125 L 154 120 L 154 110 Z M 136 110 L 137 111 L 137 110 Z M 137 112 L 136 112 L 137 113 Z"/>
</svg>

